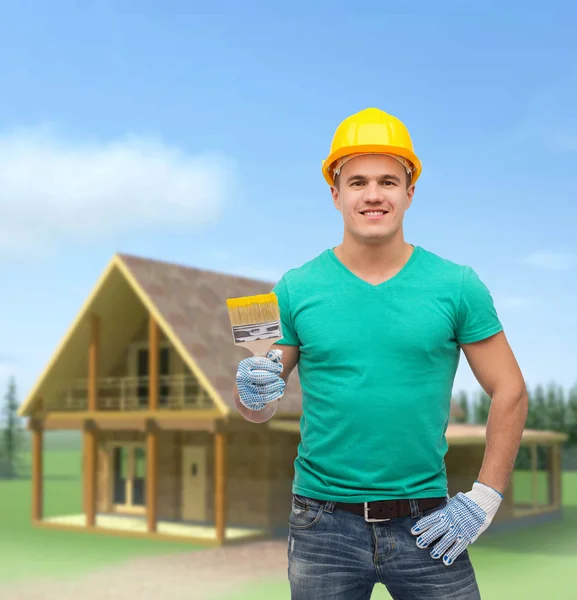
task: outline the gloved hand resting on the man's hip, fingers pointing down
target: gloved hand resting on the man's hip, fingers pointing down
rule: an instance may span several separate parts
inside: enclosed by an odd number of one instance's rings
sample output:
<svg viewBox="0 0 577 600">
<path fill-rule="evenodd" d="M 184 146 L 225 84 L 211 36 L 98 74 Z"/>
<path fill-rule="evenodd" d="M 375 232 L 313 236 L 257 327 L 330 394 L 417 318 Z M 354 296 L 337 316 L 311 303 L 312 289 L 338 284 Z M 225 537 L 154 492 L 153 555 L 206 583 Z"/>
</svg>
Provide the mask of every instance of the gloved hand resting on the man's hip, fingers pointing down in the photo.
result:
<svg viewBox="0 0 577 600">
<path fill-rule="evenodd" d="M 431 556 L 439 558 L 444 553 L 443 562 L 448 566 L 489 527 L 502 500 L 497 490 L 475 481 L 470 492 L 459 492 L 442 509 L 419 519 L 411 533 L 421 534 L 417 538 L 419 548 L 427 548 L 443 536 Z"/>
</svg>

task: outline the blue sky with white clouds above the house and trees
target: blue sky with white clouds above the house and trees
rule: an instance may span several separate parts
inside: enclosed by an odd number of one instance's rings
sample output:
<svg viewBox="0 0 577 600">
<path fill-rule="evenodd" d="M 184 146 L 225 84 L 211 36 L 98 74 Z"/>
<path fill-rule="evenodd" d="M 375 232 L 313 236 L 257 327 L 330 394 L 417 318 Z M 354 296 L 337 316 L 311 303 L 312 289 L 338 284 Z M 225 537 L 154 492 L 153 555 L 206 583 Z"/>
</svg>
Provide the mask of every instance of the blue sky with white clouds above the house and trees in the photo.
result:
<svg viewBox="0 0 577 600">
<path fill-rule="evenodd" d="M 270 4 L 0 10 L 0 385 L 115 251 L 276 280 L 337 245 L 321 160 L 369 106 L 423 161 L 407 240 L 475 268 L 530 386 L 574 384 L 577 9 Z"/>
</svg>

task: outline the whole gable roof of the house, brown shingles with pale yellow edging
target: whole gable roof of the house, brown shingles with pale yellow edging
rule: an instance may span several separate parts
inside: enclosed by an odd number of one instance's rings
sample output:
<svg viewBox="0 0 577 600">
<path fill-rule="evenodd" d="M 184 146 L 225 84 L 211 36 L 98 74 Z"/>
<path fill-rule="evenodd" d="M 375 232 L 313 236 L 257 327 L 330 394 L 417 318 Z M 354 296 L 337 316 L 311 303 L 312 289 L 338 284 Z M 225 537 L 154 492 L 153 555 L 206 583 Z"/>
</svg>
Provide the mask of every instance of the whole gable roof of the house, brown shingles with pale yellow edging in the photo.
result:
<svg viewBox="0 0 577 600">
<path fill-rule="evenodd" d="M 58 360 L 67 339 L 90 312 L 92 301 L 114 269 L 122 273 L 154 315 L 160 329 L 207 388 L 221 411 L 237 415 L 233 399 L 234 376 L 238 363 L 250 354 L 232 341 L 226 298 L 268 293 L 274 283 L 124 253 L 113 256 L 44 373 L 22 404 L 20 415 L 31 413 L 38 389 Z M 277 414 L 295 416 L 301 410 L 300 382 L 295 369 Z"/>
</svg>

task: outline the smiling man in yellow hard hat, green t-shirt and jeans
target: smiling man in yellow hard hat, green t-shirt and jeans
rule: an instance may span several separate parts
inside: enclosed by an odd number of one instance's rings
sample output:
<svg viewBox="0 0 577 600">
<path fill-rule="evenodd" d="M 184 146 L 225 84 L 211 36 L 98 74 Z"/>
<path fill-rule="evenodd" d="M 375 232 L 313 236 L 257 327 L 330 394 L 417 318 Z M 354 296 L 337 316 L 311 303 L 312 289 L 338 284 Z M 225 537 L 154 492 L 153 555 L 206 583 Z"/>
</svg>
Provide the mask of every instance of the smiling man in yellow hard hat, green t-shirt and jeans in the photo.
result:
<svg viewBox="0 0 577 600">
<path fill-rule="evenodd" d="M 475 271 L 404 239 L 421 169 L 397 118 L 370 108 L 339 125 L 323 174 L 342 243 L 285 273 L 274 287 L 284 337 L 239 365 L 236 404 L 257 423 L 299 368 L 293 600 L 368 599 L 376 583 L 402 600 L 480 598 L 467 546 L 503 498 L 527 393 Z M 478 478 L 450 498 L 445 430 L 461 349 L 492 403 Z"/>
</svg>

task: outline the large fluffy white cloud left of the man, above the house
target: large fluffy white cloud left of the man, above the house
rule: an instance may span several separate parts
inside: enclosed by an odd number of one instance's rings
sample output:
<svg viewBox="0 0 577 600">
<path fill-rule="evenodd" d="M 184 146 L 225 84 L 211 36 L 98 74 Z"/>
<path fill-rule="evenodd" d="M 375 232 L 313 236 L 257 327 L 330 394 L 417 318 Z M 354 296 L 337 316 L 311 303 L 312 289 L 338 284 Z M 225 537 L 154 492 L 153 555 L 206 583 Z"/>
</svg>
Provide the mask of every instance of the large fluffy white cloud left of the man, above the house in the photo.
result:
<svg viewBox="0 0 577 600">
<path fill-rule="evenodd" d="M 218 219 L 234 179 L 220 155 L 159 140 L 78 143 L 49 129 L 0 135 L 0 253 Z"/>
</svg>

